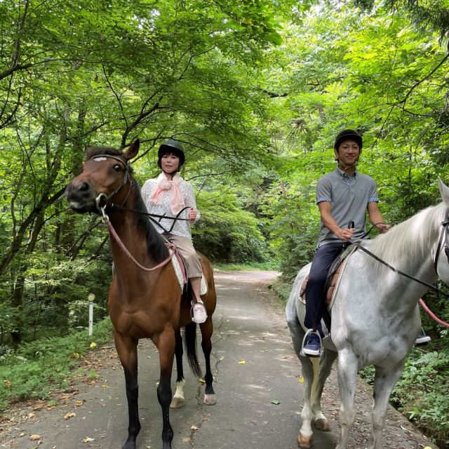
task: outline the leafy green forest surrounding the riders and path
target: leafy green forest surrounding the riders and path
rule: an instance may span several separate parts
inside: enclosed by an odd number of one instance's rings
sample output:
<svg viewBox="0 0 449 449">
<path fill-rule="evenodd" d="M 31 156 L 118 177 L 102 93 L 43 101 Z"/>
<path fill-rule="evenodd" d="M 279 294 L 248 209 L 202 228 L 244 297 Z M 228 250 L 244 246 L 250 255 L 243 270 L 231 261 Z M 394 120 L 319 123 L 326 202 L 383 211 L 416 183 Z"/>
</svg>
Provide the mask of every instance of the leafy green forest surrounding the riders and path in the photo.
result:
<svg viewBox="0 0 449 449">
<path fill-rule="evenodd" d="M 182 142 L 196 248 L 279 269 L 284 300 L 314 255 L 340 130 L 363 134 L 358 169 L 391 225 L 449 183 L 448 0 L 3 0 L 0 27 L 0 410 L 67 376 L 89 293 L 107 316 L 107 233 L 65 200 L 86 147 L 139 138 L 142 185 L 159 145 Z M 424 299 L 449 321 L 445 298 Z M 449 333 L 422 323 L 432 340 L 391 400 L 446 448 Z"/>
</svg>

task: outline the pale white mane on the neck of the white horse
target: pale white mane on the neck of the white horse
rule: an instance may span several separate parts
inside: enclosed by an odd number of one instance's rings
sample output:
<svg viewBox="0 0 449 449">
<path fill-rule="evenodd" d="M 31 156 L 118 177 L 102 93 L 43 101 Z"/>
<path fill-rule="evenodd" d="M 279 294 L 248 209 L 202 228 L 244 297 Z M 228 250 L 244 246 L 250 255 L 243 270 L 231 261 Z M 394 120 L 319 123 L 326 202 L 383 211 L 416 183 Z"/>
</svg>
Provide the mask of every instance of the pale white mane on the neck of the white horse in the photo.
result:
<svg viewBox="0 0 449 449">
<path fill-rule="evenodd" d="M 405 255 L 411 259 L 427 257 L 438 239 L 447 207 L 445 203 L 440 203 L 425 208 L 363 246 L 393 267 L 398 267 Z M 367 263 L 374 264 L 376 269 L 386 268 L 371 257 L 368 257 Z"/>
</svg>

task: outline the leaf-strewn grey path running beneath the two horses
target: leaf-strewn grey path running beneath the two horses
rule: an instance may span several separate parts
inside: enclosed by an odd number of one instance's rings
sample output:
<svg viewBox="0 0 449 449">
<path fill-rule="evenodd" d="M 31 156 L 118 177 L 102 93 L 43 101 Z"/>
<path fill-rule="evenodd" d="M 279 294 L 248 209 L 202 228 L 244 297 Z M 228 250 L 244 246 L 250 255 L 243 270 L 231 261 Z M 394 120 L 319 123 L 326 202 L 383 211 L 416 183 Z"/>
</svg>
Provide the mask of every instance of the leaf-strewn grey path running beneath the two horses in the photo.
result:
<svg viewBox="0 0 449 449">
<path fill-rule="evenodd" d="M 187 368 L 186 405 L 170 411 L 173 449 L 297 448 L 302 404 L 300 363 L 291 347 L 283 305 L 268 288 L 274 276 L 274 272 L 215 274 L 218 306 L 212 365 L 217 404 L 202 403 L 203 384 Z M 92 368 L 91 378 L 81 375 L 67 391 L 56 391 L 53 402 L 34 401 L 8 410 L 0 418 L 0 448 L 120 449 L 128 418 L 123 373 L 113 344 L 92 353 L 83 365 Z M 147 340 L 139 345 L 139 365 L 142 430 L 138 449 L 160 448 L 158 354 Z M 359 382 L 349 448 L 366 447 L 371 396 L 370 388 Z M 337 441 L 339 406 L 335 371 L 323 400 L 332 432 L 316 432 L 314 448 L 332 449 Z M 37 439 L 33 441 L 30 436 Z M 436 448 L 391 408 L 384 447 L 424 446 Z"/>
</svg>

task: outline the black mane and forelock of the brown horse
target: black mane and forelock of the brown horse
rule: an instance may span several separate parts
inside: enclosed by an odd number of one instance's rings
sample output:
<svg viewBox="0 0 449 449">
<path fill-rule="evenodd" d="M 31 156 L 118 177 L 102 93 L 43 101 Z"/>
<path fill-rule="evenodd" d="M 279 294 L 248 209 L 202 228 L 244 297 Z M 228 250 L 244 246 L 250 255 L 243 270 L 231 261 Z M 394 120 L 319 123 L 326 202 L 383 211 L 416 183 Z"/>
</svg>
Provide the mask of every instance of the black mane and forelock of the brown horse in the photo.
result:
<svg viewBox="0 0 449 449">
<path fill-rule="evenodd" d="M 100 154 L 106 154 L 108 156 L 123 156 L 123 153 L 119 149 L 112 147 L 88 147 L 86 149 L 87 160 L 92 159 L 95 156 L 100 156 Z M 126 163 L 124 159 L 123 162 Z M 128 166 L 130 175 L 132 175 L 133 168 L 129 164 L 126 165 Z M 161 234 L 156 231 L 148 216 L 145 215 L 148 211 L 142 199 L 142 195 L 140 194 L 140 185 L 135 177 L 132 179 L 135 191 L 133 209 L 137 212 L 141 212 L 136 213 L 136 215 L 138 225 L 145 233 L 145 238 L 147 239 L 148 253 L 156 263 L 162 262 L 162 260 L 168 257 L 168 248 L 166 247 L 165 241 L 161 237 Z"/>
</svg>

